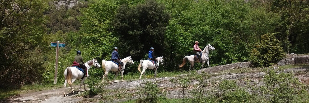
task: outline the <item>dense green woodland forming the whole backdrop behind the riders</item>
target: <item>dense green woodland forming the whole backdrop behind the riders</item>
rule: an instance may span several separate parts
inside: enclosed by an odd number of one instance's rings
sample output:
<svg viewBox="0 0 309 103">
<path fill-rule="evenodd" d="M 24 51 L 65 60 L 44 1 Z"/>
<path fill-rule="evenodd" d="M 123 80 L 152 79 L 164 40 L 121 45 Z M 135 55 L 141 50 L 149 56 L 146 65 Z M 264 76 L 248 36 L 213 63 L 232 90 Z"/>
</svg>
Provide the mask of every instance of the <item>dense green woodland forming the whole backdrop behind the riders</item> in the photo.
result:
<svg viewBox="0 0 309 103">
<path fill-rule="evenodd" d="M 121 58 L 132 55 L 136 62 L 155 47 L 164 57 L 160 71 L 179 70 L 182 58 L 193 54 L 194 41 L 202 49 L 209 43 L 216 48 L 211 66 L 252 60 L 251 50 L 264 42 L 264 34 L 275 33 L 278 41 L 271 45 L 285 53 L 309 53 L 308 0 L 78 0 L 73 7 L 54 6 L 58 1 L 0 1 L 1 85 L 52 83 L 55 48 L 49 43 L 55 41 L 66 43 L 58 82 L 76 50 L 85 61 L 101 61 L 117 46 Z M 281 58 L 273 57 L 263 65 Z M 91 69 L 90 75 L 102 77 L 102 69 Z M 131 71 L 136 65 L 125 70 Z"/>
</svg>

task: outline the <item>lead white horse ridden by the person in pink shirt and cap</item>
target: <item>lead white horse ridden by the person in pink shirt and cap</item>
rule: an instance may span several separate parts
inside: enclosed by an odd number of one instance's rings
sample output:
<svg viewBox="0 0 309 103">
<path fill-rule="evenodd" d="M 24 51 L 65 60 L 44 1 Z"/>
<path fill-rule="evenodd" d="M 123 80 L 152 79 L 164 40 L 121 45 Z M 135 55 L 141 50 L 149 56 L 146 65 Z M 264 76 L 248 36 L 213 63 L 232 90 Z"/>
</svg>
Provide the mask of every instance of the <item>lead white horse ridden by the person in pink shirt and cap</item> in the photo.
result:
<svg viewBox="0 0 309 103">
<path fill-rule="evenodd" d="M 202 57 L 201 57 L 201 59 L 202 59 L 202 68 L 204 67 L 205 62 L 207 62 L 208 67 L 210 67 L 209 66 L 209 50 L 214 50 L 214 49 L 215 49 L 214 47 L 212 47 L 210 44 L 208 44 L 204 48 L 204 50 L 202 51 Z M 189 71 L 190 71 L 191 67 L 194 69 L 194 67 L 193 67 L 194 66 L 194 62 L 200 62 L 199 60 L 194 61 L 194 55 L 190 55 L 190 56 L 187 55 L 187 56 L 184 56 L 182 64 L 179 65 L 179 67 L 183 67 L 186 64 L 187 59 L 191 63 L 191 65 L 189 67 Z"/>
</svg>

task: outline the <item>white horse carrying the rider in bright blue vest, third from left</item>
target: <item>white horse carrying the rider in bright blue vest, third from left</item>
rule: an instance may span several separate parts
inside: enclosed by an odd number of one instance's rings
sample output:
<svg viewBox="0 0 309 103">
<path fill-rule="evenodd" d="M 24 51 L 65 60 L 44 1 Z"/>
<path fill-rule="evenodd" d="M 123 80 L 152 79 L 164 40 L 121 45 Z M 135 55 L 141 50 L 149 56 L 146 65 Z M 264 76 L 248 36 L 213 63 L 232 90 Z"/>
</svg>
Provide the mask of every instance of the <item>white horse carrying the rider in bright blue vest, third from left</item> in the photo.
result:
<svg viewBox="0 0 309 103">
<path fill-rule="evenodd" d="M 158 67 L 159 67 L 159 64 L 163 64 L 163 57 L 158 57 L 158 58 L 155 58 L 158 60 Z M 141 67 L 143 68 L 143 71 L 141 72 Z M 149 60 L 140 60 L 140 63 L 138 65 L 138 71 L 141 72 L 141 76 L 139 76 L 139 79 L 142 78 L 142 75 L 144 74 L 145 75 L 145 78 L 146 78 L 146 74 L 144 73 L 146 71 L 146 69 L 155 69 L 155 76 L 157 76 L 157 68 L 155 68 L 155 64 L 153 64 L 151 61 Z M 146 78 L 147 79 L 147 78 Z"/>
</svg>

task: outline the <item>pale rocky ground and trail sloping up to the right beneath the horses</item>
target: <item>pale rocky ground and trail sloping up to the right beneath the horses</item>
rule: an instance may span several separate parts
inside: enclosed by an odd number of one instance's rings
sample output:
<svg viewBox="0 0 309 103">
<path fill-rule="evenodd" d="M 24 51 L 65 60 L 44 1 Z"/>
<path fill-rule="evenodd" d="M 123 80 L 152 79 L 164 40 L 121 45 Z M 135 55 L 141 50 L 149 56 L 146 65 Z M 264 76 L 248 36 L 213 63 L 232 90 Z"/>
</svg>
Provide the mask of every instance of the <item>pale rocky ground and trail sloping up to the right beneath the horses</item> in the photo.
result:
<svg viewBox="0 0 309 103">
<path fill-rule="evenodd" d="M 294 58 L 294 59 L 293 59 Z M 302 59 L 301 59 L 302 58 Z M 305 84 L 309 84 L 309 56 L 308 55 L 296 55 L 289 54 L 287 58 L 282 59 L 278 65 L 278 67 L 271 67 L 273 69 L 283 69 L 283 72 L 292 72 L 295 78 L 298 78 L 299 81 Z M 288 62 L 287 62 L 288 61 Z M 291 66 L 291 64 L 305 64 L 299 66 Z M 284 66 L 288 65 L 288 66 Z M 223 66 L 216 66 L 210 68 L 204 68 L 197 71 L 197 74 L 201 74 L 202 72 L 206 72 L 207 75 L 210 76 L 209 81 L 220 82 L 221 80 L 235 80 L 237 84 L 241 87 L 248 86 L 260 86 L 263 85 L 261 79 L 265 73 L 262 68 L 252 68 L 252 64 L 250 62 L 241 62 L 241 63 L 233 63 Z M 278 71 L 281 72 L 281 71 Z M 150 78 L 150 79 L 142 79 L 142 80 L 134 80 L 134 81 L 125 81 L 125 82 L 116 82 L 113 84 L 105 85 L 104 89 L 106 90 L 106 94 L 101 96 L 84 98 L 81 97 L 80 94 L 76 93 L 74 95 L 70 94 L 69 88 L 67 88 L 66 93 L 67 96 L 63 97 L 63 88 L 53 89 L 53 90 L 45 90 L 39 92 L 29 92 L 26 94 L 13 96 L 5 102 L 15 103 L 15 102 L 27 102 L 27 103 L 56 103 L 56 102 L 66 102 L 66 103 L 74 103 L 74 102 L 119 102 L 125 99 L 115 99 L 112 97 L 113 95 L 117 95 L 117 93 L 134 93 L 139 86 L 144 86 L 146 80 L 156 82 L 160 88 L 166 91 L 167 98 L 181 98 L 182 89 L 180 85 L 172 82 L 173 80 L 177 80 L 179 78 L 189 78 L 190 83 L 188 90 L 185 92 L 186 97 L 191 97 L 190 92 L 195 88 L 195 84 L 198 84 L 197 80 L 195 80 L 196 73 L 177 75 L 174 77 L 164 77 L 164 78 Z M 75 90 L 78 89 L 79 85 L 76 85 Z M 211 88 L 211 87 L 209 87 Z M 88 88 L 89 89 L 89 88 Z M 250 91 L 250 90 L 248 90 Z M 77 91 L 75 91 L 77 92 Z M 116 96 L 117 97 L 117 96 Z M 111 98 L 111 99 L 108 99 Z M 131 95 L 130 99 L 136 98 L 135 95 Z M 128 98 L 126 98 L 128 99 Z M 108 101 L 113 100 L 113 101 Z"/>
</svg>

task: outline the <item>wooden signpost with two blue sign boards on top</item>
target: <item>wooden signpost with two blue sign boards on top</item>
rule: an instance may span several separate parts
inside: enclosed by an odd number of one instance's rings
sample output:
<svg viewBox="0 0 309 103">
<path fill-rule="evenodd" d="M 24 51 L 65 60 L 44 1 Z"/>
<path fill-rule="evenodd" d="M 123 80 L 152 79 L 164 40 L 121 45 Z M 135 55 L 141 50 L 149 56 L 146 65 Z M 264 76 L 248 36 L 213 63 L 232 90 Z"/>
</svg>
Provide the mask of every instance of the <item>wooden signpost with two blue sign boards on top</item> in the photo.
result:
<svg viewBox="0 0 309 103">
<path fill-rule="evenodd" d="M 57 46 L 58 45 L 58 46 Z M 57 84 L 57 75 L 58 75 L 58 53 L 59 53 L 59 47 L 65 47 L 65 43 L 59 43 L 59 41 L 51 42 L 50 46 L 56 47 L 56 68 L 55 68 L 55 79 L 54 84 Z"/>
</svg>

